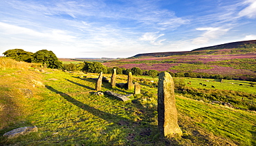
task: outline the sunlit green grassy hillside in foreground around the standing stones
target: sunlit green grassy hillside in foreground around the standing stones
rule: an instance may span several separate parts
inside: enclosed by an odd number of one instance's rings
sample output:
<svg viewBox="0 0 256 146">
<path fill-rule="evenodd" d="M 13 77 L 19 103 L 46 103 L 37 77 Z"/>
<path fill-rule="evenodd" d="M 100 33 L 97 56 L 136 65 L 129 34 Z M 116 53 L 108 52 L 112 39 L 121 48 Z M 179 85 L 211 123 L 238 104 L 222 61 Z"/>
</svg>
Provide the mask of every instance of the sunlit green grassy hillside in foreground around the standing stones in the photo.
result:
<svg viewBox="0 0 256 146">
<path fill-rule="evenodd" d="M 149 83 L 141 83 L 142 94 L 123 103 L 93 94 L 95 81 L 90 78 L 98 74 L 45 71 L 1 67 L 0 136 L 17 127 L 36 125 L 39 130 L 14 139 L 1 137 L 0 145 L 256 145 L 255 112 L 176 95 L 183 136 L 162 140 L 157 128 L 157 88 Z M 126 79 L 118 75 L 117 83 Z M 35 81 L 44 86 L 34 87 Z M 32 90 L 33 98 L 25 98 L 17 88 Z M 106 90 L 133 92 L 103 83 L 102 91 Z"/>
</svg>

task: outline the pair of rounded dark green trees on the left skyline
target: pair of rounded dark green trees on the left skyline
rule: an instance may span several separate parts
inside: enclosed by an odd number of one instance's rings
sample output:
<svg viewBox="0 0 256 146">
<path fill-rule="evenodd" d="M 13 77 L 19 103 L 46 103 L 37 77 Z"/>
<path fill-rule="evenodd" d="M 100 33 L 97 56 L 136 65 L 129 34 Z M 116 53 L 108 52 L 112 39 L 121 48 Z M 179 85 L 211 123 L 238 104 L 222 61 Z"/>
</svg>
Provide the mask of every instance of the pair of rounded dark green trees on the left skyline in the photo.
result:
<svg viewBox="0 0 256 146">
<path fill-rule="evenodd" d="M 26 52 L 22 49 L 13 49 L 3 52 L 6 57 L 15 59 L 16 61 L 24 61 L 27 63 L 42 63 L 49 68 L 62 69 L 62 62 L 57 59 L 57 56 L 48 50 L 39 50 L 35 53 Z"/>
</svg>

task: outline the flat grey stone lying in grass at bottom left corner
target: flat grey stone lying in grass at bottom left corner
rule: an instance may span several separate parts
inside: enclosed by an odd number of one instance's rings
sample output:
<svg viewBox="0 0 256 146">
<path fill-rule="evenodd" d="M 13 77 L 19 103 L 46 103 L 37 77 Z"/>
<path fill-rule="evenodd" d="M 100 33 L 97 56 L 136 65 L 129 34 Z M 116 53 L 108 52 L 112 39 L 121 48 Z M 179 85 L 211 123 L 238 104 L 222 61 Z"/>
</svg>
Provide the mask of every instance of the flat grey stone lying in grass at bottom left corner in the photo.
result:
<svg viewBox="0 0 256 146">
<path fill-rule="evenodd" d="M 19 127 L 17 129 L 12 129 L 12 131 L 3 134 L 7 138 L 15 138 L 17 136 L 29 134 L 30 132 L 37 132 L 37 127 Z"/>
</svg>

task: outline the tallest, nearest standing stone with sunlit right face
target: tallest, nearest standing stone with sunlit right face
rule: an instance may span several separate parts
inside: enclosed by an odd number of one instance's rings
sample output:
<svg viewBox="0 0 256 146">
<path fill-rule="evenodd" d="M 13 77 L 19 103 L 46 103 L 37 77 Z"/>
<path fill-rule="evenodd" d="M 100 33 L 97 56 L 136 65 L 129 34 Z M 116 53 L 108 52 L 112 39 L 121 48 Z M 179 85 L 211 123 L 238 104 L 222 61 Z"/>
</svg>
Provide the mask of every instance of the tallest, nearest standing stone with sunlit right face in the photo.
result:
<svg viewBox="0 0 256 146">
<path fill-rule="evenodd" d="M 158 81 L 158 129 L 161 136 L 182 135 L 174 96 L 174 81 L 167 72 L 159 74 Z"/>
</svg>

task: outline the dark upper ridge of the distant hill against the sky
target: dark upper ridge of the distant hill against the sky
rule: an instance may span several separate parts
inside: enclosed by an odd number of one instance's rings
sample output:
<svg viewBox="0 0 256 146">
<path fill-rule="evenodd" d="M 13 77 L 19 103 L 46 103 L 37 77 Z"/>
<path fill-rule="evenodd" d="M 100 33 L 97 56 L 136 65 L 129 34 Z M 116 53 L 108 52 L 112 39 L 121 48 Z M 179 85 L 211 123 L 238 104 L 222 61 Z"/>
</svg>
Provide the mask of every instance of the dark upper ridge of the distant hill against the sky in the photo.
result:
<svg viewBox="0 0 256 146">
<path fill-rule="evenodd" d="M 151 57 L 163 57 L 163 56 L 174 56 L 174 55 L 184 55 L 184 54 L 197 54 L 196 52 L 204 50 L 223 50 L 223 49 L 238 49 L 238 48 L 256 48 L 256 40 L 252 41 L 237 41 L 232 43 L 224 43 L 221 45 L 213 45 L 205 48 L 198 48 L 192 51 L 183 52 L 153 52 L 145 54 L 136 54 L 130 58 L 151 58 Z"/>
</svg>

